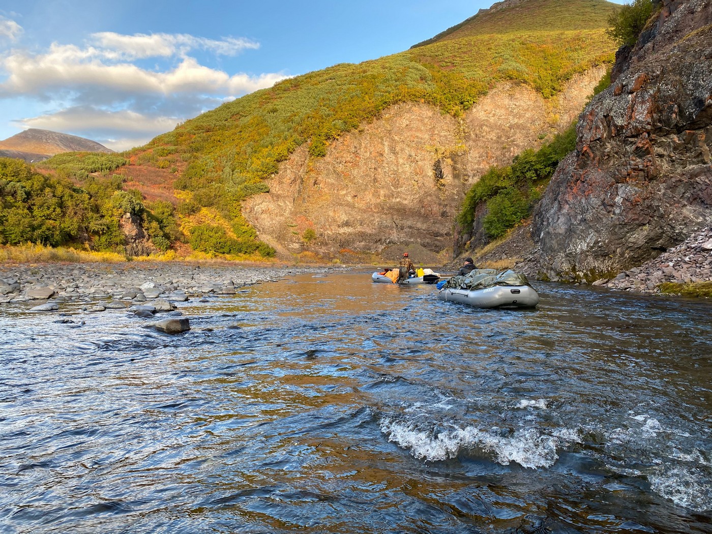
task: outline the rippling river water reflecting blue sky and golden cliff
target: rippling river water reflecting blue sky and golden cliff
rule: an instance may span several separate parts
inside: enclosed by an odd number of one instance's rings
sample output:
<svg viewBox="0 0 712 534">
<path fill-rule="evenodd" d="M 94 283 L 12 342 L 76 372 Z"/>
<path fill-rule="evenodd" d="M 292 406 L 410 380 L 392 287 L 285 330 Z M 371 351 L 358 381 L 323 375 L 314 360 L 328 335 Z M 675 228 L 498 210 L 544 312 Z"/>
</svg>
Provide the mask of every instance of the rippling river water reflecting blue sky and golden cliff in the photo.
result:
<svg viewBox="0 0 712 534">
<path fill-rule="evenodd" d="M 0 531 L 711 532 L 712 305 L 535 288 L 300 275 L 174 336 L 5 305 Z"/>
</svg>

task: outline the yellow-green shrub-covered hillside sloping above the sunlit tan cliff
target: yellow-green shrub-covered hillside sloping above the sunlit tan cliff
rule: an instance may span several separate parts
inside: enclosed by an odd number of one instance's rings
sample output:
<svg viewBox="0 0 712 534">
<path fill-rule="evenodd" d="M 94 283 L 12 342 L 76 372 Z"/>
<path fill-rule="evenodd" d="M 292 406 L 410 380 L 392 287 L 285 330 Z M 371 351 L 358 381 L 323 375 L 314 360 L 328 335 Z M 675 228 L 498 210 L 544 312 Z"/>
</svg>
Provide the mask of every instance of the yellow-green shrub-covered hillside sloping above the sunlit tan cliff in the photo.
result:
<svg viewBox="0 0 712 534">
<path fill-rule="evenodd" d="M 458 116 L 503 80 L 551 98 L 576 73 L 613 61 L 614 43 L 604 33 L 612 6 L 602 0 L 525 0 L 496 16 L 476 16 L 426 46 L 284 80 L 123 156 L 175 173 L 182 199 L 177 211 L 184 214 L 187 234 L 196 225 L 206 234 L 205 217 L 196 214 L 209 210 L 213 220 L 221 219 L 226 239 L 257 245 L 240 203 L 268 191 L 264 180 L 297 147 L 306 143 L 312 157 L 323 157 L 330 142 L 395 103 L 421 101 Z M 209 249 L 196 239 L 194 248 Z"/>
</svg>

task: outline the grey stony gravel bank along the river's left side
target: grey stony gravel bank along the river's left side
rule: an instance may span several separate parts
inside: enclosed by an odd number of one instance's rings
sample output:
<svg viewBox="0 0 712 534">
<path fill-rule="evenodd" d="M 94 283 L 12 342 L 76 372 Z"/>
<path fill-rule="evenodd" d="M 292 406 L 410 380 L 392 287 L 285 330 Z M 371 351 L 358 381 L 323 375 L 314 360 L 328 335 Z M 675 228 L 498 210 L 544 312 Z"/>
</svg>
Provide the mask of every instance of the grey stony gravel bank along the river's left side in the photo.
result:
<svg viewBox="0 0 712 534">
<path fill-rule="evenodd" d="M 111 308 L 158 308 L 206 295 L 229 295 L 243 286 L 277 281 L 301 273 L 347 270 L 335 267 L 204 266 L 191 263 L 73 263 L 0 266 L 1 305 L 36 301 L 38 311 L 62 302 Z M 163 309 L 161 309 L 163 308 Z M 145 311 L 145 310 L 143 310 Z M 155 310 L 150 310 L 155 313 Z"/>
</svg>

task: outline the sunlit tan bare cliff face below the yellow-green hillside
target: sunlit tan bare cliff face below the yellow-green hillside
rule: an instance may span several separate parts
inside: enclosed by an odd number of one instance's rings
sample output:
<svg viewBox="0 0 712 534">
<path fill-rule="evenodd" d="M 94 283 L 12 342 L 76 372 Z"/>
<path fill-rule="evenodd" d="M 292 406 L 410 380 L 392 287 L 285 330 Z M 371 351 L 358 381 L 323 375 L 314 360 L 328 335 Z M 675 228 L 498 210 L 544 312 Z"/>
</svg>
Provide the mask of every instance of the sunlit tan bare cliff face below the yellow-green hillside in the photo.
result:
<svg viewBox="0 0 712 534">
<path fill-rule="evenodd" d="M 333 142 L 323 158 L 300 147 L 269 193 L 244 201 L 243 214 L 260 239 L 285 253 L 378 253 L 409 244 L 449 251 L 454 216 L 473 181 L 570 125 L 603 74 L 592 69 L 551 100 L 502 84 L 459 120 L 426 104 L 395 105 Z M 307 229 L 317 236 L 309 244 Z"/>
</svg>

